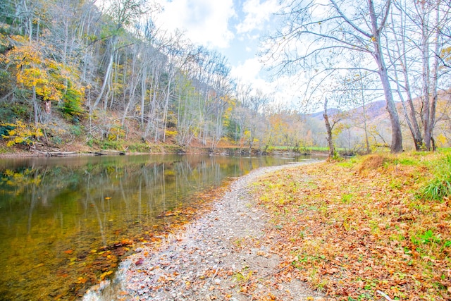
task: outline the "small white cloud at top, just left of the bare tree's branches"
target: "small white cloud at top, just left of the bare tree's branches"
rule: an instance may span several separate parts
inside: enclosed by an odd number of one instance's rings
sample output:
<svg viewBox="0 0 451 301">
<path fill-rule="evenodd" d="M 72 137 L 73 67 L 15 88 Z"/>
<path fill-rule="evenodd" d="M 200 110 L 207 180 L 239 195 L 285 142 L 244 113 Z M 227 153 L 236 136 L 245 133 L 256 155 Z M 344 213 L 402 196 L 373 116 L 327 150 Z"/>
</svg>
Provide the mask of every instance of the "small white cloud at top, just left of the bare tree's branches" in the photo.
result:
<svg viewBox="0 0 451 301">
<path fill-rule="evenodd" d="M 245 20 L 236 26 L 238 33 L 251 32 L 255 29 L 261 29 L 265 22 L 269 21 L 271 15 L 278 11 L 277 0 L 247 0 L 243 4 L 242 11 L 246 14 Z"/>
</svg>

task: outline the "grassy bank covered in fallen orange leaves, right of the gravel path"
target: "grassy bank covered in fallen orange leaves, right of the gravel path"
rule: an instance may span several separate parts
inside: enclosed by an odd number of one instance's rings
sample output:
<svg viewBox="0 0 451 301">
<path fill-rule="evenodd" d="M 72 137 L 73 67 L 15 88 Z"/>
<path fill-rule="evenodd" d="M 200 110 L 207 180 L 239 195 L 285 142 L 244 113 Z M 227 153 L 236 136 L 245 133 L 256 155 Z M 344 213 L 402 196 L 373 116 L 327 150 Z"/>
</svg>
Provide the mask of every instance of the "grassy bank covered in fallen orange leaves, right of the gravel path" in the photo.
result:
<svg viewBox="0 0 451 301">
<path fill-rule="evenodd" d="M 281 277 L 338 300 L 447 300 L 450 181 L 451 152 L 373 154 L 280 171 L 254 194 Z"/>
</svg>

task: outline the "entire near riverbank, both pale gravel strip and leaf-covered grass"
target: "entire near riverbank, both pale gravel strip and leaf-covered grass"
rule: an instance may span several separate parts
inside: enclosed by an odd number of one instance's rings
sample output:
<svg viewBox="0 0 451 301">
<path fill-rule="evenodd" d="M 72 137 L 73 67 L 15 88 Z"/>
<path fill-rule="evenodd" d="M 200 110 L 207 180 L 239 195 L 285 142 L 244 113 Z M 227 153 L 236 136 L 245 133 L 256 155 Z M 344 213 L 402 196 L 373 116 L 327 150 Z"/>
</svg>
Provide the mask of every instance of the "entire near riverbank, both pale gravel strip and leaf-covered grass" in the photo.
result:
<svg viewBox="0 0 451 301">
<path fill-rule="evenodd" d="M 446 150 L 261 168 L 85 301 L 450 300 L 450 183 Z"/>
</svg>

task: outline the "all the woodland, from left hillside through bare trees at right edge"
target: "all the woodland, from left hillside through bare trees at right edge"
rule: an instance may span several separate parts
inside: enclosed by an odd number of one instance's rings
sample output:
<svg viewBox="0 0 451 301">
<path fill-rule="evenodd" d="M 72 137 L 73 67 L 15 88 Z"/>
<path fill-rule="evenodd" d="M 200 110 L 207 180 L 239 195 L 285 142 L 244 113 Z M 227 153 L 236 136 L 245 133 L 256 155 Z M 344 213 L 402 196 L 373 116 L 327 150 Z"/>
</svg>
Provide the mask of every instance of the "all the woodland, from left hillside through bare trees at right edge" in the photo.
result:
<svg viewBox="0 0 451 301">
<path fill-rule="evenodd" d="M 135 151 L 219 142 L 299 150 L 330 139 L 347 152 L 449 146 L 450 5 L 357 2 L 294 1 L 280 12 L 285 25 L 261 55 L 279 75 L 307 78 L 299 106 L 273 102 L 231 78 L 222 54 L 161 30 L 156 4 L 2 1 L 1 137 L 8 146 L 120 150 L 132 141 Z M 333 137 L 322 113 L 301 109 L 326 97 L 338 107 L 328 110 Z"/>
</svg>

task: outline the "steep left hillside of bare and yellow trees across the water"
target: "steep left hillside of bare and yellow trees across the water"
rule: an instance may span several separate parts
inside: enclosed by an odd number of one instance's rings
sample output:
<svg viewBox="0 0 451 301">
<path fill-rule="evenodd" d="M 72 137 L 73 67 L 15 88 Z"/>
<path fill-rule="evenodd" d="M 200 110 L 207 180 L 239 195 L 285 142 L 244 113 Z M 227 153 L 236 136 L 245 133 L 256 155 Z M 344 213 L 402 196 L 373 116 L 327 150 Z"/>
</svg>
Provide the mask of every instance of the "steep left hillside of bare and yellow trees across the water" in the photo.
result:
<svg viewBox="0 0 451 301">
<path fill-rule="evenodd" d="M 271 95 L 230 78 L 217 51 L 157 27 L 156 4 L 0 5 L 1 134 L 14 138 L 10 145 L 42 136 L 58 142 L 62 130 L 80 135 L 81 125 L 87 140 L 120 140 L 137 131 L 142 142 L 171 138 L 182 146 L 197 140 L 215 147 L 221 139 L 249 148 L 280 143 L 264 109 Z M 56 133 L 52 125 L 61 116 L 70 126 L 57 124 Z"/>
</svg>

